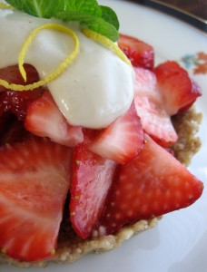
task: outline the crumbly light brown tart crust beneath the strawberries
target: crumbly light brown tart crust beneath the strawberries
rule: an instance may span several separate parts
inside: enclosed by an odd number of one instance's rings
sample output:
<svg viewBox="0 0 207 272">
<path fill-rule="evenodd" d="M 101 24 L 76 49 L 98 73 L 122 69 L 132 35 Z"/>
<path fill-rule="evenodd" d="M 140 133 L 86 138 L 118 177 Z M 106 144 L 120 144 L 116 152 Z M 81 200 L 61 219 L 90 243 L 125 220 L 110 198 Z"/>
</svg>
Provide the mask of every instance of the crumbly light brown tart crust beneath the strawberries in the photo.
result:
<svg viewBox="0 0 207 272">
<path fill-rule="evenodd" d="M 196 135 L 201 121 L 202 113 L 196 112 L 194 107 L 173 117 L 173 125 L 178 133 L 179 140 L 173 145 L 172 149 L 175 157 L 185 166 L 190 164 L 192 156 L 201 147 L 201 140 Z M 122 228 L 116 235 L 83 240 L 75 235 L 70 222 L 66 218 L 68 216 L 65 216 L 62 222 L 56 252 L 52 260 L 58 263 L 74 262 L 92 251 L 101 252 L 120 247 L 124 240 L 131 238 L 134 234 L 155 227 L 160 219 L 140 220 L 133 225 Z M 3 253 L 0 254 L 0 265 L 1 263 L 8 263 L 18 267 L 45 267 L 49 264 L 48 261 L 19 262 Z"/>
</svg>

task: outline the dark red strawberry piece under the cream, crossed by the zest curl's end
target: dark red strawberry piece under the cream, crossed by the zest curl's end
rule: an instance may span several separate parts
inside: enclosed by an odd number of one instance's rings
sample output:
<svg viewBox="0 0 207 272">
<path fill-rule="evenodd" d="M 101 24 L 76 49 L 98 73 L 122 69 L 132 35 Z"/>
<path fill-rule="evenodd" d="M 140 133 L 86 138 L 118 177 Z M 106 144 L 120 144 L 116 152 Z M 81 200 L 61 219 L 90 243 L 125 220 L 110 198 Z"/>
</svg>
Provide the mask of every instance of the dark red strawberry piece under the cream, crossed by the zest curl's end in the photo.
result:
<svg viewBox="0 0 207 272">
<path fill-rule="evenodd" d="M 37 73 L 34 66 L 30 64 L 24 64 L 25 73 L 27 81 L 25 83 L 17 64 L 7 66 L 5 68 L 0 69 L 0 79 L 4 79 L 8 83 L 15 83 L 15 84 L 21 84 L 26 85 L 30 83 L 35 83 L 39 80 L 39 74 Z M 5 92 L 7 89 L 0 85 L 0 92 Z"/>
</svg>

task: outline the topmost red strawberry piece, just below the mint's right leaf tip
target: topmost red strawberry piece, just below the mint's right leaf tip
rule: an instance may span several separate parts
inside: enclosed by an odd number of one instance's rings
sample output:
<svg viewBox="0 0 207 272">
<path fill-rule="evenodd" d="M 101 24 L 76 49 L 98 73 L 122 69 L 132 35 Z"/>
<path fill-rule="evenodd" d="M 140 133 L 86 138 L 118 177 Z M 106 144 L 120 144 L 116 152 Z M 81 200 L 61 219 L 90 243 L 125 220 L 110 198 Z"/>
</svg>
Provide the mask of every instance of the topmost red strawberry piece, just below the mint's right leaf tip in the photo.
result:
<svg viewBox="0 0 207 272">
<path fill-rule="evenodd" d="M 154 52 L 151 45 L 124 34 L 120 34 L 118 45 L 130 59 L 133 66 L 153 70 Z"/>
</svg>

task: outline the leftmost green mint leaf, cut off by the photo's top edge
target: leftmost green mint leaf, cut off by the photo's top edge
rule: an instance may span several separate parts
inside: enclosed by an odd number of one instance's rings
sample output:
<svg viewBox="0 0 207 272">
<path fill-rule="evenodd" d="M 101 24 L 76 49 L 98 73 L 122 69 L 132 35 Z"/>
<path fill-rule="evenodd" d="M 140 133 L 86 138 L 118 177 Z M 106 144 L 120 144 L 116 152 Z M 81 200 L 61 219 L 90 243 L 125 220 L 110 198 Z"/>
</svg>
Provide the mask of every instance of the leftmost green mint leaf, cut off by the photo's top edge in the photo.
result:
<svg viewBox="0 0 207 272">
<path fill-rule="evenodd" d="M 36 17 L 51 18 L 59 10 L 64 10 L 63 0 L 6 0 L 9 5 Z"/>
</svg>

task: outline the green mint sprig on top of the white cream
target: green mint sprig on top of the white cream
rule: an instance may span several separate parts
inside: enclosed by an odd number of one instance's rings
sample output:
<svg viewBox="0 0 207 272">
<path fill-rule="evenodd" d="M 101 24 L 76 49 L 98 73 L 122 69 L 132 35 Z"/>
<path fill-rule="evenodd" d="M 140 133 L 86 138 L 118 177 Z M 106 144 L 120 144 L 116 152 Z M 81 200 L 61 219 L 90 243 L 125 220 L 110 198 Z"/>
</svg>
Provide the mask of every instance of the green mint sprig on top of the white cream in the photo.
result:
<svg viewBox="0 0 207 272">
<path fill-rule="evenodd" d="M 5 0 L 9 5 L 29 15 L 76 21 L 103 34 L 113 42 L 119 38 L 119 21 L 114 11 L 96 0 Z"/>
</svg>

